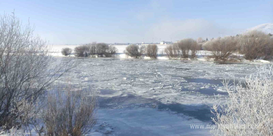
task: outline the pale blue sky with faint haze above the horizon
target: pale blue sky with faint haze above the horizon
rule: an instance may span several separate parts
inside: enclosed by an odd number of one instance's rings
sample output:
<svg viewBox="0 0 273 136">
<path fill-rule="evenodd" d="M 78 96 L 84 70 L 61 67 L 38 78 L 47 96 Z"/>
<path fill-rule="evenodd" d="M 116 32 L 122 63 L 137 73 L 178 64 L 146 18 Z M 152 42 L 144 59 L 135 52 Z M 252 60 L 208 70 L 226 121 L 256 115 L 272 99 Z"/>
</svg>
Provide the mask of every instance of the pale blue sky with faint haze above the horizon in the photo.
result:
<svg viewBox="0 0 273 136">
<path fill-rule="evenodd" d="M 13 9 L 51 44 L 210 39 L 273 22 L 272 0 L 0 0 L 0 14 Z"/>
</svg>

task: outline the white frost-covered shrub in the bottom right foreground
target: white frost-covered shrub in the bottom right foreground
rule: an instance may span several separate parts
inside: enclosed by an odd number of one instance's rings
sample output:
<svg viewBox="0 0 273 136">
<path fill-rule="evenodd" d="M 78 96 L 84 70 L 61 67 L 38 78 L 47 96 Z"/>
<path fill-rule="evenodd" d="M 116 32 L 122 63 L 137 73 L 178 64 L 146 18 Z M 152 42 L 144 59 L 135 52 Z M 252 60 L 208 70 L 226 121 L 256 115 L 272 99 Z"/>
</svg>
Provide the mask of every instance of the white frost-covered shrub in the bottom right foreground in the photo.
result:
<svg viewBox="0 0 273 136">
<path fill-rule="evenodd" d="M 215 136 L 271 136 L 273 133 L 273 69 L 261 67 L 257 75 L 246 79 L 247 87 L 241 83 L 224 87 L 228 98 L 216 97 L 212 107 L 215 117 L 213 122 L 218 126 L 212 130 Z M 224 100 L 222 103 L 221 100 Z"/>
</svg>

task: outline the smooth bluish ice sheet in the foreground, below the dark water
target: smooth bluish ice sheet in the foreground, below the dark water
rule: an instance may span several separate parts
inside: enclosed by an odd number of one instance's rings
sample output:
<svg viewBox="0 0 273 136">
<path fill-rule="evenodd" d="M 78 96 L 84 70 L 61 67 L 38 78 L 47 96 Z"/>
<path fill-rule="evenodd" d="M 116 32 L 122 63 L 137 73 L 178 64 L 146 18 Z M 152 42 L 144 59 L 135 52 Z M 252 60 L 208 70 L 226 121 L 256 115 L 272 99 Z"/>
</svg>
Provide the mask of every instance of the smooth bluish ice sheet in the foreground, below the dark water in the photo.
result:
<svg viewBox="0 0 273 136">
<path fill-rule="evenodd" d="M 170 116 L 169 112 L 154 108 L 100 109 L 98 123 L 92 135 L 119 136 L 177 136 L 210 135 L 210 129 L 190 129 L 190 124 L 206 123 L 186 116 Z M 141 117 L 140 117 L 141 116 Z"/>
</svg>

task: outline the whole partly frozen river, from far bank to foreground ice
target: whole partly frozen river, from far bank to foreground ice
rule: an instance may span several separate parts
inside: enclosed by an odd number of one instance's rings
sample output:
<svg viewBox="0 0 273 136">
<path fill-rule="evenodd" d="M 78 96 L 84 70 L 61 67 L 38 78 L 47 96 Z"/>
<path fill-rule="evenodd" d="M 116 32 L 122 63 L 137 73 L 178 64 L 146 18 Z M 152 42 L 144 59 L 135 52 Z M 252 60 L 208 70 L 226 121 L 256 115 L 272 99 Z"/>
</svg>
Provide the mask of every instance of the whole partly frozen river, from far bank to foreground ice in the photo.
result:
<svg viewBox="0 0 273 136">
<path fill-rule="evenodd" d="M 58 58 L 61 59 L 61 58 Z M 92 135 L 210 135 L 214 94 L 226 95 L 223 79 L 243 80 L 259 64 L 205 61 L 76 58 L 67 76 L 100 90 Z"/>
</svg>

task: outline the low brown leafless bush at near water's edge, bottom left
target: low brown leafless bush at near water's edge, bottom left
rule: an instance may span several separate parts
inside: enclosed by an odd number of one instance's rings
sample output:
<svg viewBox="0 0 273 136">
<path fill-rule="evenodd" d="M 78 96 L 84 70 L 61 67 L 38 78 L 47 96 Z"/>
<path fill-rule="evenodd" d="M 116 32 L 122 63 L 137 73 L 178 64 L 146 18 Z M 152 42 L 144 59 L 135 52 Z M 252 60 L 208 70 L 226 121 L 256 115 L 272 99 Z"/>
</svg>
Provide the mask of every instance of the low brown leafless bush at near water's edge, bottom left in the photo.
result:
<svg viewBox="0 0 273 136">
<path fill-rule="evenodd" d="M 96 124 L 97 92 L 76 90 L 71 85 L 49 94 L 42 118 L 48 136 L 84 136 Z"/>
</svg>

